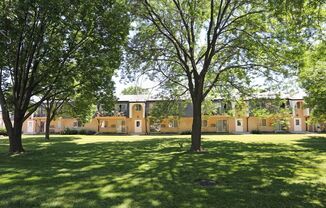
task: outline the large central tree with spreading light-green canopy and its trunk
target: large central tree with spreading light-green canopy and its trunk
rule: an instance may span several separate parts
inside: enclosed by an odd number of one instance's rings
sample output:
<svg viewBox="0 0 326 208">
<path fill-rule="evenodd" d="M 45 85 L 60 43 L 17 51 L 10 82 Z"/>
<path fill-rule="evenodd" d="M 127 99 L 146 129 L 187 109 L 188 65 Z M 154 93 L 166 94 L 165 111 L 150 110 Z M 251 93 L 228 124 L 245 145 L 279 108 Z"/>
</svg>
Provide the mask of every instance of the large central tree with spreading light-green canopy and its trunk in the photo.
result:
<svg viewBox="0 0 326 208">
<path fill-rule="evenodd" d="M 135 1 L 127 69 L 188 91 L 191 151 L 201 151 L 201 106 L 212 89 L 241 92 L 259 75 L 287 74 L 294 66 L 289 57 L 297 52 L 296 38 L 305 35 L 297 28 L 311 21 L 301 15 L 303 8 L 311 15 L 315 6 L 303 0 Z"/>
</svg>

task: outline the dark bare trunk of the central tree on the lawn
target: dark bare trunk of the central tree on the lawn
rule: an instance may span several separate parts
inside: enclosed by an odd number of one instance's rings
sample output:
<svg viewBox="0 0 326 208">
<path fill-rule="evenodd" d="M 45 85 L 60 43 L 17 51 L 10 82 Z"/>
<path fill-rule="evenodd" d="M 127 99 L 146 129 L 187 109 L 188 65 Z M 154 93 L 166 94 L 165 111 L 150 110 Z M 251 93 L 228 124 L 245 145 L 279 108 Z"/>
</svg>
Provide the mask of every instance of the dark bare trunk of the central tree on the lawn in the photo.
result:
<svg viewBox="0 0 326 208">
<path fill-rule="evenodd" d="M 191 148 L 192 152 L 202 151 L 201 146 L 201 101 L 193 99 L 193 122 L 191 131 Z"/>
</svg>

